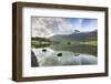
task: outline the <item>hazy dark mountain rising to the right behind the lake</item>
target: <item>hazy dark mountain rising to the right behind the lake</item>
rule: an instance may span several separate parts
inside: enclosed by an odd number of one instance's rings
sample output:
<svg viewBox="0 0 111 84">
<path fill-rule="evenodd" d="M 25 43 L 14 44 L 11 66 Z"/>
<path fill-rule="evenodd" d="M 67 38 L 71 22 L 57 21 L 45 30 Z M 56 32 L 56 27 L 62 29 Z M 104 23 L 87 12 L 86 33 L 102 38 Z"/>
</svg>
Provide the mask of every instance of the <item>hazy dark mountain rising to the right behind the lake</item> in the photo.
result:
<svg viewBox="0 0 111 84">
<path fill-rule="evenodd" d="M 91 31 L 91 32 L 79 32 L 79 33 L 72 33 L 68 35 L 53 35 L 50 38 L 51 41 L 88 41 L 88 40 L 97 40 L 98 38 L 98 31 Z"/>
</svg>

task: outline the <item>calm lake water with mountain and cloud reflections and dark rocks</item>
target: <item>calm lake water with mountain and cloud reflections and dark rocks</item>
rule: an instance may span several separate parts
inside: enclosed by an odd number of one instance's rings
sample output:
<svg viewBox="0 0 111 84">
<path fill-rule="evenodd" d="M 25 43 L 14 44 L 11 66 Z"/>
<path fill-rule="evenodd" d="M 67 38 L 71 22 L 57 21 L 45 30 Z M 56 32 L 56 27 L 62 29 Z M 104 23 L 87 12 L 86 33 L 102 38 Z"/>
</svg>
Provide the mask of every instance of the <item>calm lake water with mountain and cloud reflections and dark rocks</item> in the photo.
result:
<svg viewBox="0 0 111 84">
<path fill-rule="evenodd" d="M 32 48 L 34 62 L 32 66 L 62 66 L 98 64 L 97 46 L 91 45 L 50 45 Z"/>
</svg>

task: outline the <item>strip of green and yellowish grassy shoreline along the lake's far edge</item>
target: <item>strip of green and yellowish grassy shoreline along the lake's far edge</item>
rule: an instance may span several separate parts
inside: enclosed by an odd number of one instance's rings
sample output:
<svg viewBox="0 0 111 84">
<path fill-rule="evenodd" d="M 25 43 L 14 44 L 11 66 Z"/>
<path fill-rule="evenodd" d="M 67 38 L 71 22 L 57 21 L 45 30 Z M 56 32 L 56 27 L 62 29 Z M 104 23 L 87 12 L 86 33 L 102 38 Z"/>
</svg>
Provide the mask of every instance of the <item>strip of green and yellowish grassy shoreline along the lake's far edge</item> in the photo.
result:
<svg viewBox="0 0 111 84">
<path fill-rule="evenodd" d="M 41 40 L 31 40 L 31 46 L 32 48 L 49 46 L 49 45 L 53 45 L 53 42 L 41 41 Z M 69 41 L 69 42 L 59 42 L 57 44 L 64 45 L 64 46 L 69 46 L 69 45 L 81 45 L 81 44 L 85 44 L 85 45 L 98 45 L 98 42 L 95 40 L 94 41 L 85 41 L 85 42 L 81 42 L 81 41 Z"/>
</svg>

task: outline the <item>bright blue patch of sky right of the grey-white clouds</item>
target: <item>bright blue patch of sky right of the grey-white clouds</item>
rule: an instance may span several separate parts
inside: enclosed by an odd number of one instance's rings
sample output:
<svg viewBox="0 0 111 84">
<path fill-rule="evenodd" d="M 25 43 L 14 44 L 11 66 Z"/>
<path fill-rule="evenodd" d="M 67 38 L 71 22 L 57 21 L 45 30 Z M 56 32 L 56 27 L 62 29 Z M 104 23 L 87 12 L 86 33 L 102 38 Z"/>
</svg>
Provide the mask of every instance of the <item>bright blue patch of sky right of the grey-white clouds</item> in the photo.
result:
<svg viewBox="0 0 111 84">
<path fill-rule="evenodd" d="M 65 18 L 65 21 L 72 25 L 73 30 L 93 31 L 98 28 L 98 19 Z"/>
</svg>

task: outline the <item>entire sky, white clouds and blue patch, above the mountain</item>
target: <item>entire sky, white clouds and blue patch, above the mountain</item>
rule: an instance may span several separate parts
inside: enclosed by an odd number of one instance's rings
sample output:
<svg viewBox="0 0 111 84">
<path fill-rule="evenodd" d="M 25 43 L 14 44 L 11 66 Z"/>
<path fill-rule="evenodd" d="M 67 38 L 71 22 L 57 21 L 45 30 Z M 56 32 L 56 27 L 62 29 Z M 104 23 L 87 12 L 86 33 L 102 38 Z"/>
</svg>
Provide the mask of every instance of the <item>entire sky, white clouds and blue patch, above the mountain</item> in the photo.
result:
<svg viewBox="0 0 111 84">
<path fill-rule="evenodd" d="M 71 34 L 74 30 L 90 32 L 98 29 L 98 19 L 31 17 L 32 36 L 49 38 Z"/>
</svg>

